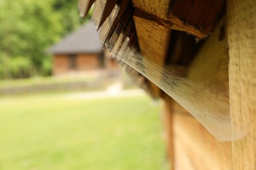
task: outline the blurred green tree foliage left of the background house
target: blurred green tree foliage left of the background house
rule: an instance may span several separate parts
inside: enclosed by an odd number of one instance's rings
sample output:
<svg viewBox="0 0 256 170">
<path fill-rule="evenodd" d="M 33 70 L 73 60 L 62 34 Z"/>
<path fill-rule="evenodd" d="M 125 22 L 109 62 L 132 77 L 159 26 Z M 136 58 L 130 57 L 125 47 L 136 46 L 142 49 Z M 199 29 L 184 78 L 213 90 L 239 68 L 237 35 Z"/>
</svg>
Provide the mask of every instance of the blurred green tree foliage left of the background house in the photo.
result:
<svg viewBox="0 0 256 170">
<path fill-rule="evenodd" d="M 76 0 L 0 0 L 0 78 L 49 75 L 45 50 L 82 22 Z"/>
</svg>

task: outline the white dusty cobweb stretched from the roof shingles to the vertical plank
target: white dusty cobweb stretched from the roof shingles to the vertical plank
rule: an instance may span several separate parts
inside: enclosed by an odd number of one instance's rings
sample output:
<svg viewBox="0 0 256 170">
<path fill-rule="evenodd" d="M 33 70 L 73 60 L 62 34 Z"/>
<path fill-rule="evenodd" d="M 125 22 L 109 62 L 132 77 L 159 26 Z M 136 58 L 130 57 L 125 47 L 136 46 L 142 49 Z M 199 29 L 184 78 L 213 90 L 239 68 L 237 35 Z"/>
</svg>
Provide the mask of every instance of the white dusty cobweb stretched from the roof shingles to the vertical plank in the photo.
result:
<svg viewBox="0 0 256 170">
<path fill-rule="evenodd" d="M 114 46 L 104 46 L 115 58 L 133 67 L 182 105 L 219 141 L 233 141 L 244 135 L 244 130 L 232 128 L 228 92 L 218 88 L 228 80 L 197 80 L 189 76 L 189 67 L 158 65 L 150 54 L 146 54 L 147 58 L 142 56 L 122 33 Z M 228 65 L 228 58 L 219 63 L 219 69 L 221 65 Z M 179 76 L 182 74 L 188 76 Z"/>
</svg>

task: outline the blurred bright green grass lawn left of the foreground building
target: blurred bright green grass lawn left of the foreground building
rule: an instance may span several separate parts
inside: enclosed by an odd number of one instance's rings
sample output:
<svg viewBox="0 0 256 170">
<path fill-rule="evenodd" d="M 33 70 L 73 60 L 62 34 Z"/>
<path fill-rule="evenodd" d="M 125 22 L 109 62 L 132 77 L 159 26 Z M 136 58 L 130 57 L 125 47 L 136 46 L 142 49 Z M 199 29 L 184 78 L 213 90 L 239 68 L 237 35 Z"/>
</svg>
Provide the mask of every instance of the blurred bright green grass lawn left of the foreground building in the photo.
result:
<svg viewBox="0 0 256 170">
<path fill-rule="evenodd" d="M 165 169 L 159 107 L 144 95 L 0 98 L 0 169 Z"/>
</svg>

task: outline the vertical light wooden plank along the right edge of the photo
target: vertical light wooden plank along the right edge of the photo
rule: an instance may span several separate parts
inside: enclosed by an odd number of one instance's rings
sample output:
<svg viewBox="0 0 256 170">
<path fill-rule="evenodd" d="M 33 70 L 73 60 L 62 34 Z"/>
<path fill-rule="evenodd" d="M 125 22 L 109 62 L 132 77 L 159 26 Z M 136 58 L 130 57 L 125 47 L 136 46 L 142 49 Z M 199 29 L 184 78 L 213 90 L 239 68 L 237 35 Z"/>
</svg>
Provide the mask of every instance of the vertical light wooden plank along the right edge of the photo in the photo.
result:
<svg viewBox="0 0 256 170">
<path fill-rule="evenodd" d="M 256 1 L 228 0 L 230 112 L 234 131 L 232 169 L 256 169 Z"/>
</svg>

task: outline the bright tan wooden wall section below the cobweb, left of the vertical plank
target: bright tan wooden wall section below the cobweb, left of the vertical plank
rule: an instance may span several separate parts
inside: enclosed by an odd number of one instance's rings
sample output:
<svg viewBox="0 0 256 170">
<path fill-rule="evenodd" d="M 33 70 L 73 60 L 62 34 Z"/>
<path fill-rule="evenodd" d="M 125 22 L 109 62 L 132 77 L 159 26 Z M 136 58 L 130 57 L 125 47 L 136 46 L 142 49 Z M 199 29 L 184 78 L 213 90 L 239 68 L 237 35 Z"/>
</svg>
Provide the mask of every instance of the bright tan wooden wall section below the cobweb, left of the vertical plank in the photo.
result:
<svg viewBox="0 0 256 170">
<path fill-rule="evenodd" d="M 219 142 L 181 105 L 173 101 L 175 169 L 231 169 L 231 143 Z"/>
</svg>

